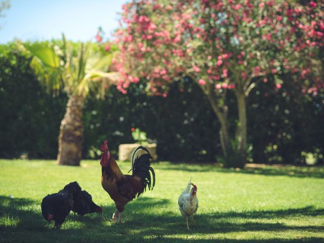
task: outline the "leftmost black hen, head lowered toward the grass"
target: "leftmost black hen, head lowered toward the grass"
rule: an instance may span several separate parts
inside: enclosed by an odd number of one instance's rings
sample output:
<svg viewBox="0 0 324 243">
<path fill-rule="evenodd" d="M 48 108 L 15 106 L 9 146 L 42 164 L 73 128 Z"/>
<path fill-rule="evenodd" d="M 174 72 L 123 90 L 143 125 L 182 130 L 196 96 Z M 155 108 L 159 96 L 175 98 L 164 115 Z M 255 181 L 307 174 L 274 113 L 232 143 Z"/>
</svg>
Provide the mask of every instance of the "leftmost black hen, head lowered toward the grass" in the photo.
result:
<svg viewBox="0 0 324 243">
<path fill-rule="evenodd" d="M 73 200 L 68 193 L 60 191 L 45 196 L 42 200 L 42 214 L 51 222 L 55 221 L 54 229 L 59 229 L 66 216 L 73 208 Z"/>
</svg>

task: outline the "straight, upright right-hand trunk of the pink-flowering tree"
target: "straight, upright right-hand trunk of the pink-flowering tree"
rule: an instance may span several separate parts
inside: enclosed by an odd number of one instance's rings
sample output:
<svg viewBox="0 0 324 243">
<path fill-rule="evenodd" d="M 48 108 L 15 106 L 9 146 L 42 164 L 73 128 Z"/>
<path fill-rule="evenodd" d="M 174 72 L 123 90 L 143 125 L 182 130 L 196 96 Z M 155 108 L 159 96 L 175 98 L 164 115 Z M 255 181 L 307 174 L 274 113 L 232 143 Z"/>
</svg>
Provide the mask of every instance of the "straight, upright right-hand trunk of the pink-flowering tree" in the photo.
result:
<svg viewBox="0 0 324 243">
<path fill-rule="evenodd" d="M 236 93 L 238 121 L 236 130 L 238 167 L 244 168 L 247 161 L 247 107 L 244 93 Z"/>
</svg>

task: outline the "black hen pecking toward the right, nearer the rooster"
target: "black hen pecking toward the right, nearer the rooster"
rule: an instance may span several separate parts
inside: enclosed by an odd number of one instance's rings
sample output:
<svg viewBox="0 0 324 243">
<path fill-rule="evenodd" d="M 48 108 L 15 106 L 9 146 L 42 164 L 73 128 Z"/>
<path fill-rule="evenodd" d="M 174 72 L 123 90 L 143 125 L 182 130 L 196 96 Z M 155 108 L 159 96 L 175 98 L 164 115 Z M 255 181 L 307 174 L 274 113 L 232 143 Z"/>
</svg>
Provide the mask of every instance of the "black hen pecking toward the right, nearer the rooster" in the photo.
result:
<svg viewBox="0 0 324 243">
<path fill-rule="evenodd" d="M 68 191 L 73 197 L 74 213 L 85 215 L 89 213 L 101 213 L 103 208 L 99 207 L 92 201 L 92 196 L 85 190 L 82 190 L 79 184 L 74 181 L 67 184 L 64 191 Z"/>
</svg>

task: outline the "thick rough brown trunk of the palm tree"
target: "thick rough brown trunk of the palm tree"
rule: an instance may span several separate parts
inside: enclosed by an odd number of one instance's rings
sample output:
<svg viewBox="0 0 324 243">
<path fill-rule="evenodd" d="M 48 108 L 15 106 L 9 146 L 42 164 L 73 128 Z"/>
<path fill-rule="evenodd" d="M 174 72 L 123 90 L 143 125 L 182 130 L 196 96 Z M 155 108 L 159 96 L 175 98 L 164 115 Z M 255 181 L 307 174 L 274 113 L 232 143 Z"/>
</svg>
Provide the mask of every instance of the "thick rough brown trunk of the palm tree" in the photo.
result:
<svg viewBox="0 0 324 243">
<path fill-rule="evenodd" d="M 83 143 L 82 108 L 84 98 L 71 95 L 61 121 L 59 135 L 58 165 L 79 166 Z"/>
</svg>

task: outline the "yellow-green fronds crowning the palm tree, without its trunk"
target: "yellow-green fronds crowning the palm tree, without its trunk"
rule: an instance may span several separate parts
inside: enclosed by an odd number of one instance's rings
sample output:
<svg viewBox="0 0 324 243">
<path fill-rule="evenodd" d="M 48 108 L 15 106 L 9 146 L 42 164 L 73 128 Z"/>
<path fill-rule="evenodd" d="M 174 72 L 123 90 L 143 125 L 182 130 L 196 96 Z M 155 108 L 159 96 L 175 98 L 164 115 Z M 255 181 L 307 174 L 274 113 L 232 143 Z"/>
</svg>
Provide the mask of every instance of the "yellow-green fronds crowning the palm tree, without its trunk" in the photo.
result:
<svg viewBox="0 0 324 243">
<path fill-rule="evenodd" d="M 74 50 L 62 34 L 62 49 L 48 42 L 22 44 L 32 55 L 31 67 L 49 90 L 58 90 L 64 83 L 68 94 L 87 96 L 97 89 L 99 97 L 120 78 L 117 72 L 107 72 L 115 53 L 100 55 L 92 51 L 91 43 Z M 76 55 L 77 53 L 77 55 Z"/>
</svg>

